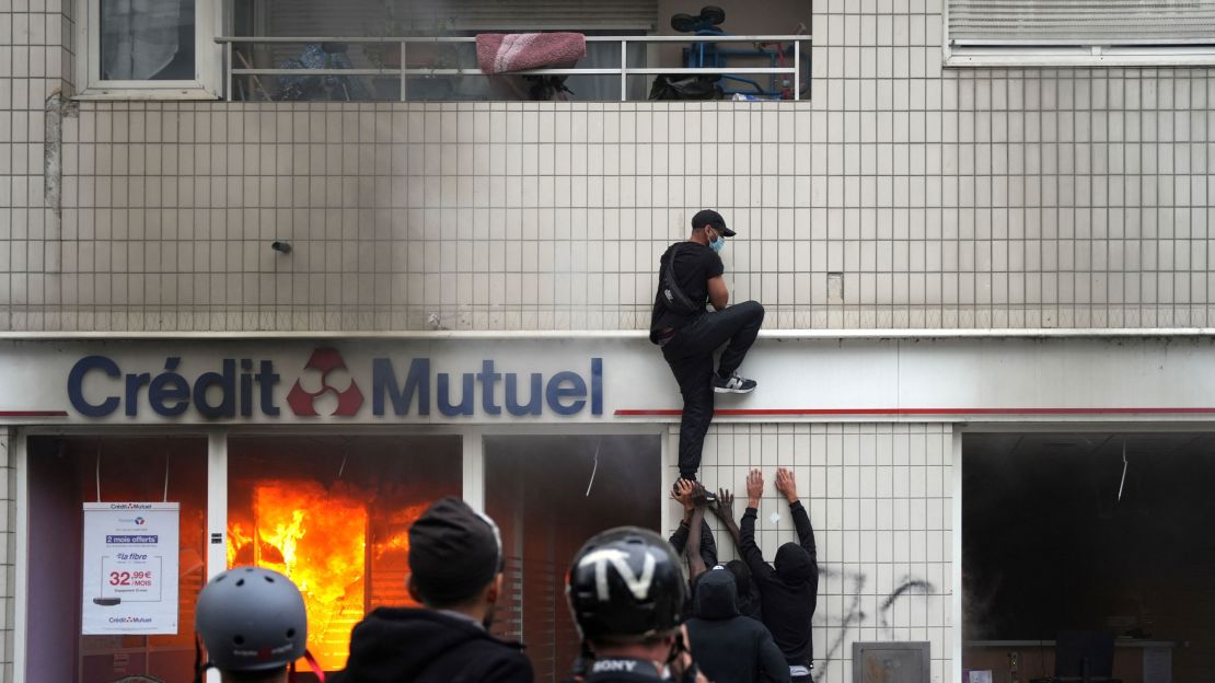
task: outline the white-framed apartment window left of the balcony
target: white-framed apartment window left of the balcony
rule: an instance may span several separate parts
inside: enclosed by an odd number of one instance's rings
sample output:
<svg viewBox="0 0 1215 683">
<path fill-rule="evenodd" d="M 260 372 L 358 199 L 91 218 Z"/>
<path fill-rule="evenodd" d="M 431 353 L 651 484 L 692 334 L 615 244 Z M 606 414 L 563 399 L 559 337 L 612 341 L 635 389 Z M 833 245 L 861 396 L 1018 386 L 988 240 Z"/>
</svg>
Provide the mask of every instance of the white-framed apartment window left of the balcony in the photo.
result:
<svg viewBox="0 0 1215 683">
<path fill-rule="evenodd" d="M 214 100 L 222 2 L 79 0 L 79 97 Z"/>
</svg>

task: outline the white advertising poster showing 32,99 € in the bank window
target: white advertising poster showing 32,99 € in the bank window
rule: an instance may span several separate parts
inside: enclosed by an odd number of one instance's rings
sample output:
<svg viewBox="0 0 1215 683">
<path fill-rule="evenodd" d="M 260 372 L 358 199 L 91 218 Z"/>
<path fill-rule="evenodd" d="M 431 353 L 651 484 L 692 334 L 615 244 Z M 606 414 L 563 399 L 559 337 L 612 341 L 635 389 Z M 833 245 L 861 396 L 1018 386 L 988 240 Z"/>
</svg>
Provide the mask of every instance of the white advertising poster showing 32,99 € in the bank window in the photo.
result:
<svg viewBox="0 0 1215 683">
<path fill-rule="evenodd" d="M 179 503 L 85 503 L 80 632 L 177 632 Z"/>
</svg>

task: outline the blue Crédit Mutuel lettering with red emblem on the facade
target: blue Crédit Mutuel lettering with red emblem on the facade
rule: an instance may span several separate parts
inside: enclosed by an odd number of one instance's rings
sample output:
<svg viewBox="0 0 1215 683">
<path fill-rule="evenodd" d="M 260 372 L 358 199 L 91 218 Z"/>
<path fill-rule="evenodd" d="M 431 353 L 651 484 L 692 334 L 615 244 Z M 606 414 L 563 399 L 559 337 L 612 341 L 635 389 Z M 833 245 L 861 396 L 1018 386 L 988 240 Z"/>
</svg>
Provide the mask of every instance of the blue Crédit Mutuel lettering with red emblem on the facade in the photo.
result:
<svg viewBox="0 0 1215 683">
<path fill-rule="evenodd" d="M 429 357 L 371 359 L 356 376 L 337 349 L 315 349 L 286 394 L 286 406 L 301 418 L 430 416 L 558 416 L 587 410 L 603 414 L 603 359 L 589 359 L 589 377 L 575 371 L 501 372 L 493 359 L 479 371 L 436 372 Z M 215 361 L 211 361 L 213 363 Z M 109 356 L 84 356 L 68 373 L 68 400 L 84 417 L 115 413 L 139 417 L 151 410 L 177 417 L 193 410 L 207 419 L 282 414 L 287 384 L 273 360 L 220 359 L 197 367 L 168 356 L 163 368 L 126 371 Z M 366 394 L 364 394 L 366 391 Z M 369 411 L 367 403 L 371 403 Z"/>
</svg>

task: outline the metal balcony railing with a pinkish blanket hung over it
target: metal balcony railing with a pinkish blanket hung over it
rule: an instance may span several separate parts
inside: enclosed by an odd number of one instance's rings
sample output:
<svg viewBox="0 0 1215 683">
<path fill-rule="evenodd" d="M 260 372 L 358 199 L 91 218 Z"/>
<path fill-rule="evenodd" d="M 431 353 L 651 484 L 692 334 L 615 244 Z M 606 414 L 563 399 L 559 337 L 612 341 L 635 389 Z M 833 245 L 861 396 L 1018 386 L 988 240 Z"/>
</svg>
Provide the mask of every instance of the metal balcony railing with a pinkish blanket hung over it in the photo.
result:
<svg viewBox="0 0 1215 683">
<path fill-rule="evenodd" d="M 620 79 L 620 101 L 628 100 L 628 77 L 652 77 L 652 75 L 718 75 L 723 79 L 756 84 L 757 91 L 764 94 L 761 98 L 769 100 L 801 100 L 803 94 L 802 57 L 803 45 L 808 49 L 809 35 L 588 35 L 587 43 L 615 43 L 620 45 L 618 67 L 573 67 L 573 68 L 543 68 L 510 72 L 508 74 L 493 74 L 507 77 L 526 75 L 604 75 L 617 77 Z M 486 77 L 477 68 L 451 68 L 451 67 L 409 67 L 409 46 L 442 44 L 475 44 L 475 36 L 413 36 L 413 38 L 368 38 L 368 36 L 310 36 L 310 38 L 282 38 L 282 36 L 221 36 L 215 39 L 224 46 L 224 83 L 226 97 L 233 98 L 233 79 L 247 78 L 262 90 L 266 100 L 270 100 L 269 90 L 264 84 L 258 83 L 262 77 L 394 77 L 400 81 L 401 102 L 409 100 L 409 81 L 418 78 L 435 77 Z M 756 46 L 752 58 L 769 56 L 774 66 L 701 66 L 701 67 L 649 67 L 629 66 L 629 45 L 650 44 L 690 44 L 696 45 L 693 50 L 699 50 L 705 55 L 707 45 L 713 44 L 752 44 Z M 346 63 L 341 66 L 328 64 L 321 68 L 255 68 L 237 45 L 271 45 L 271 44 L 298 44 L 298 45 L 337 45 L 345 49 L 349 45 L 375 45 L 377 50 L 400 50 L 400 66 L 386 66 L 383 68 L 358 68 Z M 234 62 L 233 58 L 237 61 Z M 790 63 L 791 62 L 791 63 Z M 808 64 L 807 64 L 808 66 Z M 779 80 L 780 94 L 773 96 L 772 91 L 763 91 L 755 78 L 768 77 L 774 81 Z M 781 78 L 782 77 L 782 78 Z M 808 84 L 807 84 L 808 85 Z M 383 100 L 383 98 L 382 98 Z"/>
</svg>

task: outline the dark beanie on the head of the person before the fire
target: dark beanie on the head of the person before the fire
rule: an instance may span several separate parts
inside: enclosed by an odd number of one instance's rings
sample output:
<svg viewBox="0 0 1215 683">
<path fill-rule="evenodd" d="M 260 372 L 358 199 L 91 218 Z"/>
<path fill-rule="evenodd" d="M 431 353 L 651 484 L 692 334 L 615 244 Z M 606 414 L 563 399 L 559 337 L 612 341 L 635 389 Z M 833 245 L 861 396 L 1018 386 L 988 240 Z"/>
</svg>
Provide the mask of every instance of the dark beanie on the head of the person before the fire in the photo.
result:
<svg viewBox="0 0 1215 683">
<path fill-rule="evenodd" d="M 409 527 L 409 570 L 426 603 L 467 600 L 502 570 L 498 527 L 464 501 L 440 498 Z"/>
</svg>

